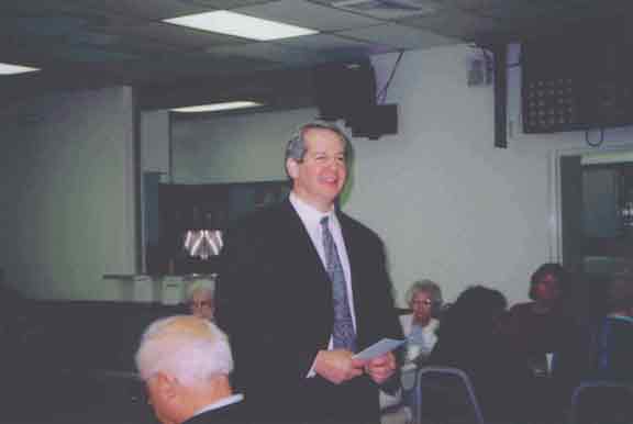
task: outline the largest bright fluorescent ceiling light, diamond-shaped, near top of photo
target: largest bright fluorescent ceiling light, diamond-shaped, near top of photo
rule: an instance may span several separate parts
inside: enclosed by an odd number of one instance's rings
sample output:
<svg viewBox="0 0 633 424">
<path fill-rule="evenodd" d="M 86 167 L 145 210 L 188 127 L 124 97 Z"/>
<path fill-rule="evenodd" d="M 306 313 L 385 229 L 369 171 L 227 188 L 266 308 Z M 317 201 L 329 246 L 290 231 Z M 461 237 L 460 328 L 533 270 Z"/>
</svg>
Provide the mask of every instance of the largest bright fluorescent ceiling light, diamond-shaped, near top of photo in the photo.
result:
<svg viewBox="0 0 633 424">
<path fill-rule="evenodd" d="M 227 10 L 188 14 L 186 16 L 166 19 L 164 21 L 176 25 L 257 41 L 290 38 L 318 33 L 318 31 L 307 27 L 253 18 L 242 13 L 230 12 Z"/>
</svg>

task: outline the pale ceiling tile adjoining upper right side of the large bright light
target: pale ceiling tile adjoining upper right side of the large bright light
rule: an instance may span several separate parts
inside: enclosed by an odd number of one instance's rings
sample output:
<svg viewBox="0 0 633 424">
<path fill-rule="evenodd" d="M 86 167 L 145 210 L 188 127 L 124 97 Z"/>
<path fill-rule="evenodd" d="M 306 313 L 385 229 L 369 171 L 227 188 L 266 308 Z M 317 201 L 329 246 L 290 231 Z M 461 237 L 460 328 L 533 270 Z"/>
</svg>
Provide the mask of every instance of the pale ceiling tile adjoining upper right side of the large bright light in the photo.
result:
<svg viewBox="0 0 633 424">
<path fill-rule="evenodd" d="M 280 0 L 249 8 L 241 8 L 236 11 L 256 18 L 270 19 L 319 31 L 346 30 L 380 23 L 380 21 L 371 18 L 302 0 Z"/>
</svg>

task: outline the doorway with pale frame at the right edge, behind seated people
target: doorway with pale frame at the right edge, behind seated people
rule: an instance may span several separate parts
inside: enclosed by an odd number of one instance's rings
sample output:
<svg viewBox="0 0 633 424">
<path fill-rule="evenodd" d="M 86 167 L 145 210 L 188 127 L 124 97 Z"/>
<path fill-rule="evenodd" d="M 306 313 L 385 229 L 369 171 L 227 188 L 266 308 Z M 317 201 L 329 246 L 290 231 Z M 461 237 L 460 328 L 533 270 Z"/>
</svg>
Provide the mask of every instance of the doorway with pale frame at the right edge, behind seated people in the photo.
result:
<svg viewBox="0 0 633 424">
<path fill-rule="evenodd" d="M 608 281 L 633 271 L 633 152 L 560 155 L 560 256 L 580 308 L 600 314 Z"/>
</svg>

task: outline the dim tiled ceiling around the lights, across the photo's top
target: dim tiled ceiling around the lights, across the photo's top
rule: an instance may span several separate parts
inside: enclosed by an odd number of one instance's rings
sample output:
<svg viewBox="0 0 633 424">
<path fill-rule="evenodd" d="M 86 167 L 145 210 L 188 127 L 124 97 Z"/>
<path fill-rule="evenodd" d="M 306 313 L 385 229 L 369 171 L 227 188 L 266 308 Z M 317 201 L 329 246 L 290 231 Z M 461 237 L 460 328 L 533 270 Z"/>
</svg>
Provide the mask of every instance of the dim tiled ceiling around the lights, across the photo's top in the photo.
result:
<svg viewBox="0 0 633 424">
<path fill-rule="evenodd" d="M 203 79 L 234 83 L 241 76 L 310 69 L 378 53 L 526 40 L 571 24 L 600 32 L 604 19 L 633 11 L 631 0 L 366 0 L 365 4 L 351 5 L 353 11 L 341 3 L 1 0 L 0 62 L 41 67 L 43 71 L 0 76 L 0 89 L 18 96 L 22 90 L 104 83 L 175 87 Z M 320 33 L 253 42 L 160 21 L 215 9 Z"/>
</svg>

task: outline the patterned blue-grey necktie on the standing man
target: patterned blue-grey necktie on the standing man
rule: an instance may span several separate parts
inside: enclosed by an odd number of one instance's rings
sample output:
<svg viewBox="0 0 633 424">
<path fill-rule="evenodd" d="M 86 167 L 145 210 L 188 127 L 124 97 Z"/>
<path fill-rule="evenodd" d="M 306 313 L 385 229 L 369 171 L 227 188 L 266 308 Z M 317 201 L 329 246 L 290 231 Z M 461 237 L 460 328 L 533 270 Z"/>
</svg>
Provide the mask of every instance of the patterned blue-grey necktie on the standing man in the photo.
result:
<svg viewBox="0 0 633 424">
<path fill-rule="evenodd" d="M 349 302 L 347 301 L 345 274 L 338 259 L 336 244 L 327 227 L 327 216 L 321 219 L 323 248 L 325 252 L 325 263 L 327 264 L 326 270 L 332 281 L 332 298 L 334 301 L 334 330 L 332 332 L 332 338 L 335 349 L 355 352 L 356 334 L 354 333 L 354 322 L 352 321 L 352 312 L 349 311 Z"/>
</svg>

